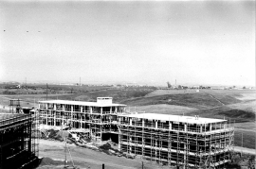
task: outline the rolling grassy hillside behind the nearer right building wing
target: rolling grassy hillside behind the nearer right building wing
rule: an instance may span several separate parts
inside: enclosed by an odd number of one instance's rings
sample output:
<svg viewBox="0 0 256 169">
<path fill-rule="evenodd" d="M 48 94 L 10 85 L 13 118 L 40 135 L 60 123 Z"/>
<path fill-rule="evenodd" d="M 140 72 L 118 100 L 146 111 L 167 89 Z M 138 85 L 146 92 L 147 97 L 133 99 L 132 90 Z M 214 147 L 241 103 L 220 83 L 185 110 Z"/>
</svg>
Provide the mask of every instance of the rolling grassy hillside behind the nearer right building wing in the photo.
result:
<svg viewBox="0 0 256 169">
<path fill-rule="evenodd" d="M 243 146 L 255 149 L 255 91 L 157 90 L 121 103 L 146 112 L 226 119 L 235 127 L 234 144 L 242 146 L 243 133 Z"/>
</svg>

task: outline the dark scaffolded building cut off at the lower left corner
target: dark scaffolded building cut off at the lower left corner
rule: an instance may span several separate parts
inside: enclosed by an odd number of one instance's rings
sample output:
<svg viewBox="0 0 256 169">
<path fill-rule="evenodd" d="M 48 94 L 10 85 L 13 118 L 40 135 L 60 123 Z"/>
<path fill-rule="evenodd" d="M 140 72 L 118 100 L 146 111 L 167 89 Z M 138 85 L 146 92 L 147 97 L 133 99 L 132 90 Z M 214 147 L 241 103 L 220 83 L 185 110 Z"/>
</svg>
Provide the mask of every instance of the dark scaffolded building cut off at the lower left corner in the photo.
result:
<svg viewBox="0 0 256 169">
<path fill-rule="evenodd" d="M 0 113 L 0 169 L 34 168 L 38 164 L 35 115 Z"/>
</svg>

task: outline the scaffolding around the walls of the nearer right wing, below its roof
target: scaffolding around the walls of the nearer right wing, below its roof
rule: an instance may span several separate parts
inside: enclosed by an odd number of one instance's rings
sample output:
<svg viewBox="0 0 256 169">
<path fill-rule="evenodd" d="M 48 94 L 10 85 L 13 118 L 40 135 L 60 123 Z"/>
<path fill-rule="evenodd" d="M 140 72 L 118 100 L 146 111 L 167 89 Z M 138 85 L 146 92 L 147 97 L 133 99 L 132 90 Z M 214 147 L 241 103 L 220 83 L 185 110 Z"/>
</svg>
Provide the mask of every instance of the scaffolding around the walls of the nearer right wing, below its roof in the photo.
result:
<svg viewBox="0 0 256 169">
<path fill-rule="evenodd" d="M 119 116 L 122 152 L 183 168 L 223 168 L 230 161 L 234 129 L 227 121 L 193 124 L 144 115 Z"/>
</svg>

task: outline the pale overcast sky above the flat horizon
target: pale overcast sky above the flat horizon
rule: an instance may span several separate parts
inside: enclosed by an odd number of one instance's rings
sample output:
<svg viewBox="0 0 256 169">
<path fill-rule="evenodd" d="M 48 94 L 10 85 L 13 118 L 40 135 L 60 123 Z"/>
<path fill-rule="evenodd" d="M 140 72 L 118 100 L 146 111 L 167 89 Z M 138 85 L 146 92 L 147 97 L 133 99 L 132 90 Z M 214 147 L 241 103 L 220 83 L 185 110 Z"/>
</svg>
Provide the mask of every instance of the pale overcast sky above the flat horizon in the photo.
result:
<svg viewBox="0 0 256 169">
<path fill-rule="evenodd" d="M 0 2 L 0 80 L 255 85 L 255 1 Z"/>
</svg>

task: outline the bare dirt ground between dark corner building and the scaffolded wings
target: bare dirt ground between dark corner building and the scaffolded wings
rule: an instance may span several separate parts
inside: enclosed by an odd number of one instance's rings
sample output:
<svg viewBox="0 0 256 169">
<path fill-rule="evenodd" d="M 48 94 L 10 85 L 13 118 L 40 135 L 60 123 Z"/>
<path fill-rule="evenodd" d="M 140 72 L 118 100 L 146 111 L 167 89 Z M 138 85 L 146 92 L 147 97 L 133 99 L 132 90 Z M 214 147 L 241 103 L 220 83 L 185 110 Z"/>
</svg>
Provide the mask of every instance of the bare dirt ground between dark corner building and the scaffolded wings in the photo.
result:
<svg viewBox="0 0 256 169">
<path fill-rule="evenodd" d="M 145 161 L 140 158 L 132 160 L 125 157 L 117 157 L 111 154 L 106 154 L 103 151 L 78 147 L 74 144 L 68 144 L 68 147 L 75 166 L 78 166 L 79 168 L 99 169 L 102 167 L 102 163 L 104 163 L 105 169 L 141 169 L 143 161 L 144 169 L 170 169 L 168 166 L 163 166 L 151 161 Z M 56 161 L 64 161 L 64 143 L 40 140 L 39 157 L 47 157 Z M 70 160 L 70 155 L 67 154 L 67 161 Z M 42 165 L 39 166 L 38 169 L 62 167 L 64 167 L 64 162 L 60 165 Z"/>
</svg>

